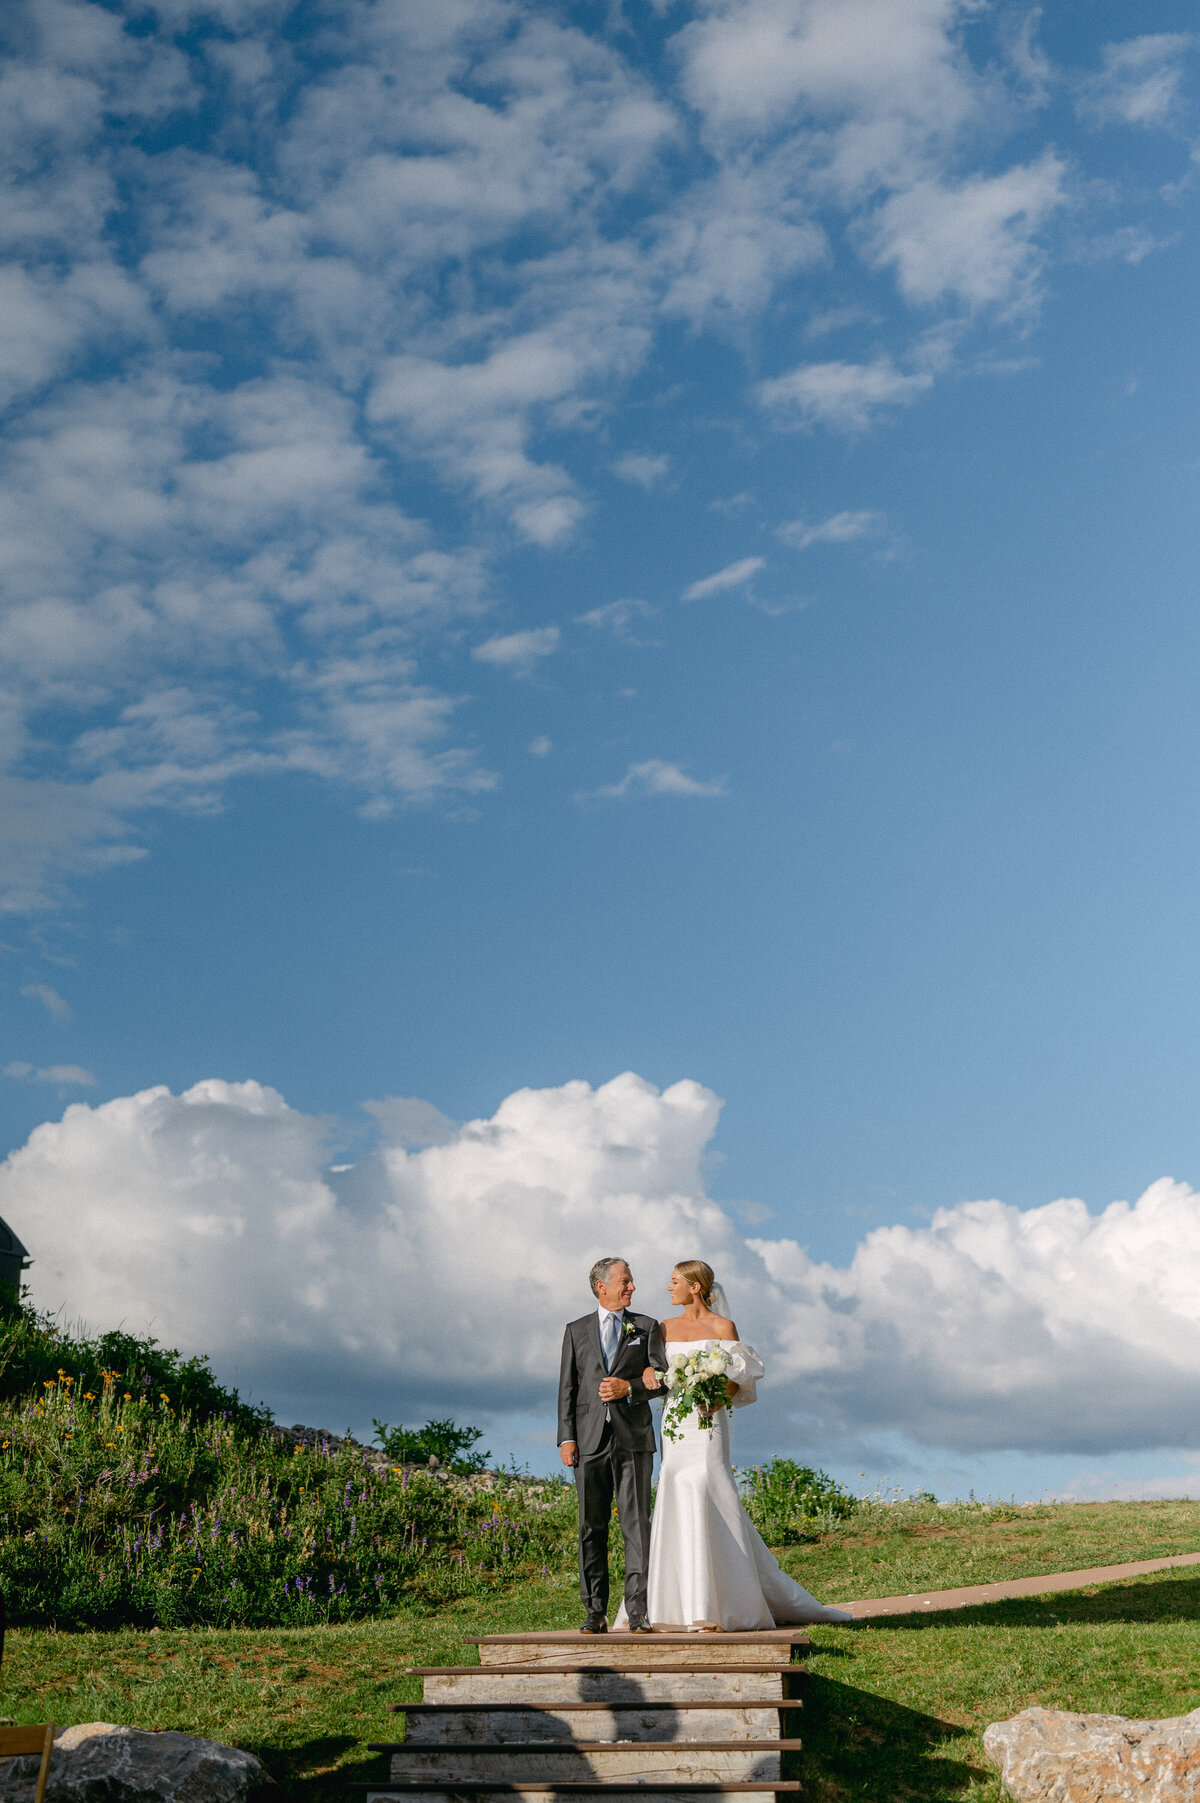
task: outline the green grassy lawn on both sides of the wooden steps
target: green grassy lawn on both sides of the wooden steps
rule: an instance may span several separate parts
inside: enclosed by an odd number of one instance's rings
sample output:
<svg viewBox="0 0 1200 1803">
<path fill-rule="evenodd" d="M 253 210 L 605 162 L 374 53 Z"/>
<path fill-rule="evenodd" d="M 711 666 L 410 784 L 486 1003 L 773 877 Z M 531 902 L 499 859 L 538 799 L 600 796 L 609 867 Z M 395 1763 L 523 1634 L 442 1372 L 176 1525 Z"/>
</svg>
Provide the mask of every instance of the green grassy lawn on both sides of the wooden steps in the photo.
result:
<svg viewBox="0 0 1200 1803">
<path fill-rule="evenodd" d="M 820 1596 L 906 1594 L 1200 1551 L 1196 1504 L 876 1515 L 825 1545 L 789 1547 Z M 1198 1569 L 1200 1570 L 1200 1569 Z M 333 1628 L 9 1637 L 0 1709 L 18 1722 L 182 1727 L 249 1747 L 288 1798 L 324 1803 L 375 1776 L 369 1740 L 398 1738 L 389 1702 L 416 1700 L 409 1664 L 470 1662 L 463 1635 L 573 1626 L 573 1574 L 436 1612 Z M 813 1803 L 998 1803 L 980 1734 L 1029 1704 L 1182 1715 L 1200 1706 L 1200 1576 L 996 1603 L 951 1615 L 813 1630 L 800 1776 Z"/>
</svg>

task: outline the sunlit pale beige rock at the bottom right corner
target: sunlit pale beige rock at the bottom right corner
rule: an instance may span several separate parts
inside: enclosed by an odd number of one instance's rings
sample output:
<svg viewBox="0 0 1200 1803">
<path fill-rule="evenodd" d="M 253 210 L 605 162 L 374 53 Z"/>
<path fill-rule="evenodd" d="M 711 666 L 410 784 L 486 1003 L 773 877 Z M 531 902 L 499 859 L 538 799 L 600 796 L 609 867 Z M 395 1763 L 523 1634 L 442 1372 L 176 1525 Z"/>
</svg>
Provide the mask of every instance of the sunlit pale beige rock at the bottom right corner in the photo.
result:
<svg viewBox="0 0 1200 1803">
<path fill-rule="evenodd" d="M 1200 1709 L 1160 1722 L 1022 1709 L 984 1731 L 1018 1803 L 1200 1803 Z"/>
</svg>

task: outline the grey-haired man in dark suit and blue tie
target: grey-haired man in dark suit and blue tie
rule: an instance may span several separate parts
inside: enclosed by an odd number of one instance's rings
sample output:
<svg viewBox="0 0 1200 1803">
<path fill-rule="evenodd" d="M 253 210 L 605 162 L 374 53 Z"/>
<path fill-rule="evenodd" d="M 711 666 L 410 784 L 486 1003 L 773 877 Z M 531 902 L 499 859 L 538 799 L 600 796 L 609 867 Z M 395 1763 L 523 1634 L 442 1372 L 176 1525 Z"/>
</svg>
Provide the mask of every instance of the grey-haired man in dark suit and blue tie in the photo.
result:
<svg viewBox="0 0 1200 1803">
<path fill-rule="evenodd" d="M 645 1581 L 650 1558 L 650 1471 L 654 1417 L 641 1374 L 667 1370 L 661 1325 L 629 1307 L 634 1280 L 625 1258 L 596 1258 L 589 1273 L 595 1309 L 562 1336 L 559 1450 L 575 1469 L 578 1496 L 578 1588 L 584 1634 L 607 1632 L 609 1520 L 625 1540 L 625 1612 L 634 1634 L 649 1634 Z"/>
</svg>

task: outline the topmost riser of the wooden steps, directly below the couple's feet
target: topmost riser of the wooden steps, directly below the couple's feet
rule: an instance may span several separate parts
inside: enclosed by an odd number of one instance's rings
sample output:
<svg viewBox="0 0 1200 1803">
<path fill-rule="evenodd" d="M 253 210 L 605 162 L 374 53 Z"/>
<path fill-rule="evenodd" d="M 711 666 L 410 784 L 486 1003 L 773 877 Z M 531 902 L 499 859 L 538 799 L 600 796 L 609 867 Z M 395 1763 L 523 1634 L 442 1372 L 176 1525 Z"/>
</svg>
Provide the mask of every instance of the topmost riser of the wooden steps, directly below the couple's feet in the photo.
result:
<svg viewBox="0 0 1200 1803">
<path fill-rule="evenodd" d="M 762 1628 L 753 1634 L 481 1634 L 468 1639 L 479 1648 L 481 1666 L 787 1666 L 793 1652 L 809 1648 L 809 1635 L 793 1628 Z"/>
</svg>

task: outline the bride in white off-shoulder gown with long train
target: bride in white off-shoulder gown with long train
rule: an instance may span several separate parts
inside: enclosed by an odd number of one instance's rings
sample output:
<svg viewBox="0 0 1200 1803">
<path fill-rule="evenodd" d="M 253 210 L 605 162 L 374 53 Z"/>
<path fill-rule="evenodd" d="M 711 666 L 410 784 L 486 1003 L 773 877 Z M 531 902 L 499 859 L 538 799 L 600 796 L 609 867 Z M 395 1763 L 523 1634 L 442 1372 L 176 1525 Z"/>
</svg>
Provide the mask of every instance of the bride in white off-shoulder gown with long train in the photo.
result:
<svg viewBox="0 0 1200 1803">
<path fill-rule="evenodd" d="M 732 1358 L 728 1405 L 708 1421 L 690 1414 L 663 1433 L 663 1464 L 650 1522 L 649 1615 L 654 1626 L 773 1628 L 800 1621 L 852 1621 L 843 1608 L 825 1608 L 787 1572 L 742 1507 L 730 1464 L 730 1410 L 757 1399 L 762 1359 L 737 1338 L 728 1304 L 703 1258 L 685 1258 L 667 1286 L 679 1314 L 663 1322 L 667 1358 L 721 1343 Z M 647 1390 L 659 1374 L 647 1367 Z M 618 1623 L 620 1626 L 622 1623 Z"/>
</svg>

